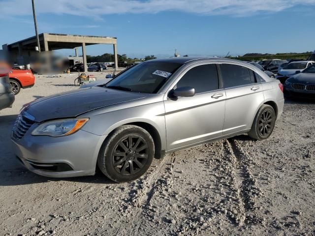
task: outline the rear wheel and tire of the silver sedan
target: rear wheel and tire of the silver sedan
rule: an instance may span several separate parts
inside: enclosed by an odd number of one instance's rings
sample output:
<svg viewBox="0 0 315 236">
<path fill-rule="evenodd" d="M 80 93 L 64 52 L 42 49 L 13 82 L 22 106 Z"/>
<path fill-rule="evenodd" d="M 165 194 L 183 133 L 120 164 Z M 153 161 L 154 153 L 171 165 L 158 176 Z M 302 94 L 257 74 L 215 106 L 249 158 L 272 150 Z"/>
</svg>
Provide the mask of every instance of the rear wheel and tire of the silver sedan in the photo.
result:
<svg viewBox="0 0 315 236">
<path fill-rule="evenodd" d="M 256 140 L 264 140 L 272 134 L 276 123 L 275 110 L 270 105 L 262 105 L 252 122 L 248 135 Z"/>
</svg>

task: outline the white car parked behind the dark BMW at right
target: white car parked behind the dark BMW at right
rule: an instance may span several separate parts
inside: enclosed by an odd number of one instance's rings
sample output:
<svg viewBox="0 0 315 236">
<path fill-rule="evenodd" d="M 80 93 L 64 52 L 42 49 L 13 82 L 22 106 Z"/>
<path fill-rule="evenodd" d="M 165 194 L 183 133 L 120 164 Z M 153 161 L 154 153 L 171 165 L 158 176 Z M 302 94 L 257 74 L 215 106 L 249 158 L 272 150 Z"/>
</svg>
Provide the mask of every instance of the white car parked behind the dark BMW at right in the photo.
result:
<svg viewBox="0 0 315 236">
<path fill-rule="evenodd" d="M 315 64 L 315 61 L 313 60 L 293 61 L 288 63 L 278 72 L 276 79 L 280 80 L 281 83 L 284 83 L 291 75 L 295 75 L 313 64 Z"/>
</svg>

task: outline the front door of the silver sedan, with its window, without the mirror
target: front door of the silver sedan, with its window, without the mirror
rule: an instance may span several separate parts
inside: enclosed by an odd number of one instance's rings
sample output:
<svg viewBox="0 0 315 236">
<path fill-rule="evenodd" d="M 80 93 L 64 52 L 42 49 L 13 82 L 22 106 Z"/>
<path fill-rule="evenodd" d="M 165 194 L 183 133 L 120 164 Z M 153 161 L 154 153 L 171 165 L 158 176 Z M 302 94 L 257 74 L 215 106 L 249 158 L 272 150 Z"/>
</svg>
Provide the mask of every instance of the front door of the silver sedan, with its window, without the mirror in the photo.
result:
<svg viewBox="0 0 315 236">
<path fill-rule="evenodd" d="M 188 147 L 222 135 L 225 91 L 216 64 L 188 67 L 172 89 L 192 87 L 195 95 L 164 97 L 167 150 Z"/>
</svg>

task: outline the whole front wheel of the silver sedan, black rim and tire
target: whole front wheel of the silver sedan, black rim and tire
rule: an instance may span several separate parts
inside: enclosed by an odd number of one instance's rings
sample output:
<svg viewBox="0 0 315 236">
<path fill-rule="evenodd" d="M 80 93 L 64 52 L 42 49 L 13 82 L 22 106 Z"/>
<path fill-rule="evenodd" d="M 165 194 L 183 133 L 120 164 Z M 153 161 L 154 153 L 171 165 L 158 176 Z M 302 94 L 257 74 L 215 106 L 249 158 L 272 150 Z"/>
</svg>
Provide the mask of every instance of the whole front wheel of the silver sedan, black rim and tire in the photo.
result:
<svg viewBox="0 0 315 236">
<path fill-rule="evenodd" d="M 154 141 L 145 129 L 123 125 L 102 145 L 97 165 L 111 180 L 129 182 L 146 173 L 151 166 L 154 151 Z"/>
</svg>

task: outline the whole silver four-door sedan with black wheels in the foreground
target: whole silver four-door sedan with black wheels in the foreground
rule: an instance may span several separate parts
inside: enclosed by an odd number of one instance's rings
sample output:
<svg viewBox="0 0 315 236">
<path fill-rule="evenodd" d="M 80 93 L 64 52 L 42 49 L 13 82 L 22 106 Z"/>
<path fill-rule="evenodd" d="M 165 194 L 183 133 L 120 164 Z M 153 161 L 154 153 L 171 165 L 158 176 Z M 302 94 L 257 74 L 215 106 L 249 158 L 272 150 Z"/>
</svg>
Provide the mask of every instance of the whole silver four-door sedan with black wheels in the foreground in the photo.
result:
<svg viewBox="0 0 315 236">
<path fill-rule="evenodd" d="M 267 139 L 283 106 L 282 84 L 249 63 L 155 59 L 25 105 L 13 149 L 39 175 L 94 175 L 97 165 L 125 182 L 166 153 L 240 134 Z"/>
</svg>

